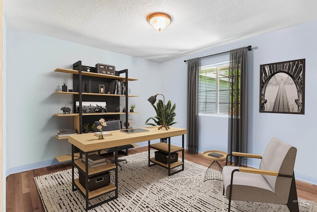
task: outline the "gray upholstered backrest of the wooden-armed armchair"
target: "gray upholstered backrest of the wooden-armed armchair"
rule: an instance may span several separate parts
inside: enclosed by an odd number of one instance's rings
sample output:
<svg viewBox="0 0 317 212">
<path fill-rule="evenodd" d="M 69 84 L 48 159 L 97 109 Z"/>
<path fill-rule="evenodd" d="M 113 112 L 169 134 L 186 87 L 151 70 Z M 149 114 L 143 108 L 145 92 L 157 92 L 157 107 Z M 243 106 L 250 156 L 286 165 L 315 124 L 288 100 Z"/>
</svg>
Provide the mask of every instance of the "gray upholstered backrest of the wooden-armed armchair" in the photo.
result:
<svg viewBox="0 0 317 212">
<path fill-rule="evenodd" d="M 293 175 L 297 149 L 272 138 L 263 154 L 260 169 L 277 171 L 279 174 Z M 281 199 L 288 199 L 291 178 L 263 175 L 271 188 Z M 286 200 L 287 200 L 286 199 Z"/>
</svg>

